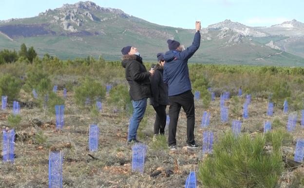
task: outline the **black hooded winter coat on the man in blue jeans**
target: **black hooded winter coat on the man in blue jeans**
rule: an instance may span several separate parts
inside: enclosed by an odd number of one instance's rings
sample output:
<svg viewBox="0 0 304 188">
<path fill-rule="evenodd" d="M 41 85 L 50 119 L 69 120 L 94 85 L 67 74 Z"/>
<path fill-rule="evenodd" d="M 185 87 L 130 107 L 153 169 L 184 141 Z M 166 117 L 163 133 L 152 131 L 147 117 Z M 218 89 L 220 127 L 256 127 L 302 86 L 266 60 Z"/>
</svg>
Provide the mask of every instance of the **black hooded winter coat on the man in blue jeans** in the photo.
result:
<svg viewBox="0 0 304 188">
<path fill-rule="evenodd" d="M 138 101 L 150 98 L 150 73 L 142 63 L 142 58 L 137 55 L 124 55 L 121 64 L 125 68 L 126 79 L 130 85 L 131 99 Z"/>
</svg>

